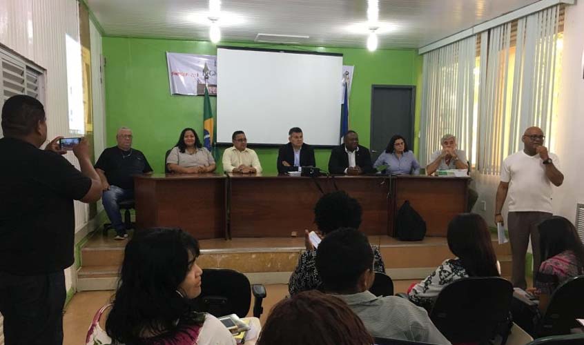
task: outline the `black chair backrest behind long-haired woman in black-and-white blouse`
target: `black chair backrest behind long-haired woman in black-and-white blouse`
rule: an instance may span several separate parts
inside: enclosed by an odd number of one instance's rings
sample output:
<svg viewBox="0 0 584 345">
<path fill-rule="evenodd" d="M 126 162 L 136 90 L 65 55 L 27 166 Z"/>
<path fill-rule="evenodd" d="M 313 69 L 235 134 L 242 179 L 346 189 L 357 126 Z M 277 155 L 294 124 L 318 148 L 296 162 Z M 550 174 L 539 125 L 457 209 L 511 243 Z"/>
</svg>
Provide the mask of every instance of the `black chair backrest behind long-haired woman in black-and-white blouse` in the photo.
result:
<svg viewBox="0 0 584 345">
<path fill-rule="evenodd" d="M 509 325 L 511 282 L 501 277 L 459 279 L 442 288 L 430 319 L 451 343 L 481 342 Z"/>
</svg>

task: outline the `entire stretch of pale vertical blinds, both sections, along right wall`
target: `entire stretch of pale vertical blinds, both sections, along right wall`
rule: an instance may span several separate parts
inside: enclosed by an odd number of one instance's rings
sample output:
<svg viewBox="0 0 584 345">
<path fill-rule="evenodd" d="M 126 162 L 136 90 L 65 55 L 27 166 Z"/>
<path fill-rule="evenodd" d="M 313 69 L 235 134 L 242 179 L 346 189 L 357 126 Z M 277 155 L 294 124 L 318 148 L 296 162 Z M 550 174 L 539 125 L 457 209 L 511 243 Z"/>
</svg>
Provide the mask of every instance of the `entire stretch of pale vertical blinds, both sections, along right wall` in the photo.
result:
<svg viewBox="0 0 584 345">
<path fill-rule="evenodd" d="M 440 137 L 452 133 L 478 171 L 498 175 L 503 159 L 523 148 L 529 126 L 542 128 L 553 150 L 562 23 L 563 6 L 552 6 L 427 52 L 420 161 L 428 162 Z M 473 73 L 477 41 L 480 65 Z"/>
</svg>

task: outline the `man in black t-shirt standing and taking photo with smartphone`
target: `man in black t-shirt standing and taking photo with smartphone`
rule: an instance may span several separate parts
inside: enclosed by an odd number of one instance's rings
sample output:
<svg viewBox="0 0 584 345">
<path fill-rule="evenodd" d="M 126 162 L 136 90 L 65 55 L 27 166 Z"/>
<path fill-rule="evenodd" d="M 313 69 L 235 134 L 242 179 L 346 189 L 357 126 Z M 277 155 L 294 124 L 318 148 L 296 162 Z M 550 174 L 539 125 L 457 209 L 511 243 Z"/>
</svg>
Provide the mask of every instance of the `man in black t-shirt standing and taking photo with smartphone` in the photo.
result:
<svg viewBox="0 0 584 345">
<path fill-rule="evenodd" d="M 4 342 L 62 344 L 64 269 L 73 264 L 73 200 L 95 202 L 101 182 L 85 139 L 73 148 L 81 172 L 61 155 L 57 137 L 44 150 L 41 102 L 6 100 L 0 139 L 0 313 Z"/>
</svg>

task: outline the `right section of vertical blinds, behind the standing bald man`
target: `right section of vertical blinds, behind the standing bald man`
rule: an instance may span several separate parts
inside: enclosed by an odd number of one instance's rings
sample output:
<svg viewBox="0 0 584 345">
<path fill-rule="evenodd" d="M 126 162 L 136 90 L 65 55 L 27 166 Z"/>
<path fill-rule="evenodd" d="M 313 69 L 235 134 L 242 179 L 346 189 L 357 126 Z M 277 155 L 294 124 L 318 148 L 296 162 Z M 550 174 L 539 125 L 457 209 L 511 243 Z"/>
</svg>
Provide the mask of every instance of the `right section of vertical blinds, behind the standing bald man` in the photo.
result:
<svg viewBox="0 0 584 345">
<path fill-rule="evenodd" d="M 481 33 L 478 170 L 483 174 L 498 175 L 503 159 L 523 148 L 525 128 L 541 127 L 547 143 L 552 137 L 560 10 L 553 6 L 518 19 L 516 30 L 505 23 Z"/>
</svg>

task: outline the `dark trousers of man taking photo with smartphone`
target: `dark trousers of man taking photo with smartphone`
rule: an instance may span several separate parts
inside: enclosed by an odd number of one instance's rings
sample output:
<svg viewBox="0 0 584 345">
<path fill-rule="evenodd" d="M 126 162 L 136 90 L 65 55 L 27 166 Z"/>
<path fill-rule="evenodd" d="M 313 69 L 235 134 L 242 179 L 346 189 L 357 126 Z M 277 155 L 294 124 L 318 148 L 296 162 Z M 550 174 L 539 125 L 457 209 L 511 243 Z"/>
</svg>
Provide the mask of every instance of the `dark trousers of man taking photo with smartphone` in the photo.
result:
<svg viewBox="0 0 584 345">
<path fill-rule="evenodd" d="M 0 272 L 0 313 L 6 345 L 62 345 L 63 271 L 45 275 Z"/>
</svg>

